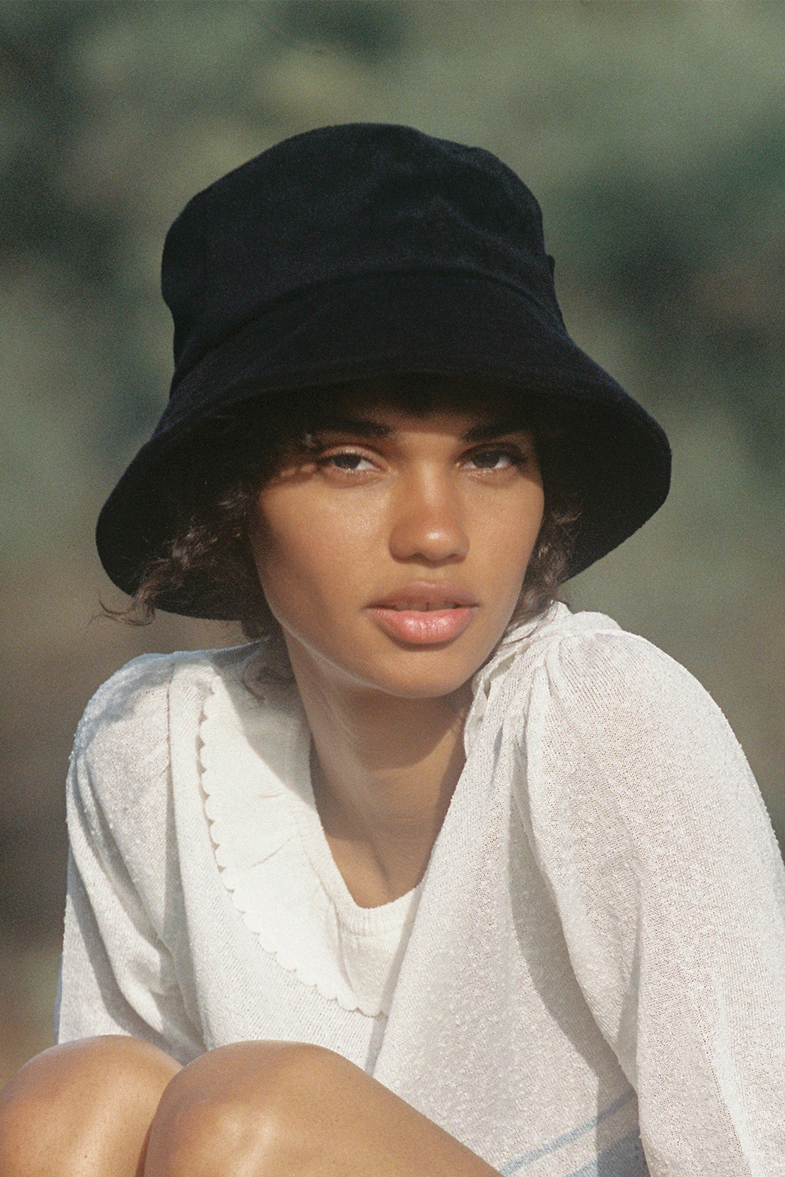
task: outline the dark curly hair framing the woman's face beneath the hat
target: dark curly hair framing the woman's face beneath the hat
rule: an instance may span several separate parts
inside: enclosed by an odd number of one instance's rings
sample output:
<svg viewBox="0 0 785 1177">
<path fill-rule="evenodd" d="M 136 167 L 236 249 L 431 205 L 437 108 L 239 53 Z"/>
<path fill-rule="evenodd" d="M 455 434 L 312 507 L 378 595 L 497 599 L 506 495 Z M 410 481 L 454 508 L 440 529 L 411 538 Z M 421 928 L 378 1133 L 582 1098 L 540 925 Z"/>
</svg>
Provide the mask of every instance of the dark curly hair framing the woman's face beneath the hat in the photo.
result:
<svg viewBox="0 0 785 1177">
<path fill-rule="evenodd" d="M 162 493 L 171 497 L 180 526 L 142 570 L 131 605 L 105 614 L 146 625 L 175 597 L 193 616 L 227 616 L 250 640 L 280 637 L 251 554 L 248 531 L 260 488 L 287 457 L 301 448 L 319 419 L 347 400 L 384 404 L 415 414 L 444 408 L 492 410 L 510 427 L 531 428 L 545 486 L 545 513 L 513 618 L 525 621 L 557 599 L 567 568 L 578 511 L 560 492 L 559 428 L 535 403 L 524 405 L 510 390 L 444 377 L 410 375 L 293 395 L 286 421 L 271 421 L 260 401 L 211 418 L 172 464 Z M 314 403 L 318 407 L 314 408 Z M 198 586 L 198 587 L 194 587 Z M 175 610 L 177 612 L 180 609 Z"/>
</svg>

